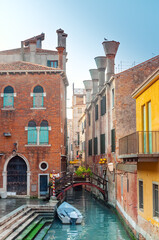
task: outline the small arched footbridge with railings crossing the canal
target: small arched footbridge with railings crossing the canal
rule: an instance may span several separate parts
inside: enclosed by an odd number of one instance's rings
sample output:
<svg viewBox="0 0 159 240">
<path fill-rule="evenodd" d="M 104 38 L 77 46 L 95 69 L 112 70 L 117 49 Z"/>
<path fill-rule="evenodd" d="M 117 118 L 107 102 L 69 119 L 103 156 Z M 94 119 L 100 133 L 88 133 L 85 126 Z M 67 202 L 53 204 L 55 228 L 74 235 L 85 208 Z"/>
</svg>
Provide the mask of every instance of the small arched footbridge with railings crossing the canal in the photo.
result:
<svg viewBox="0 0 159 240">
<path fill-rule="evenodd" d="M 107 191 L 107 180 L 98 176 L 95 173 L 92 173 L 91 176 L 78 177 L 73 173 L 67 173 L 62 178 L 56 180 L 55 189 L 57 199 L 63 197 L 63 194 L 68 191 L 70 188 L 76 186 L 90 186 L 97 188 L 103 195 L 103 198 L 108 200 L 108 191 Z"/>
</svg>

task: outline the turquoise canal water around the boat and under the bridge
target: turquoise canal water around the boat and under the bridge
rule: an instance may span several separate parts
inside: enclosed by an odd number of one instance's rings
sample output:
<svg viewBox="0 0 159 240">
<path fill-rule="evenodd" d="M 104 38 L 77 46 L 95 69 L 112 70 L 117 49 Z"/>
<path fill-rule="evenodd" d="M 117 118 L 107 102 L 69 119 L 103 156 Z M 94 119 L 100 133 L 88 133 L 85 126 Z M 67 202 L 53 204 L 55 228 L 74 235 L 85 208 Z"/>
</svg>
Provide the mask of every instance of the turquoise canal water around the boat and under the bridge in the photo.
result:
<svg viewBox="0 0 159 240">
<path fill-rule="evenodd" d="M 128 240 L 118 217 L 85 190 L 67 192 L 68 203 L 83 215 L 81 225 L 63 225 L 56 218 L 44 240 Z"/>
</svg>

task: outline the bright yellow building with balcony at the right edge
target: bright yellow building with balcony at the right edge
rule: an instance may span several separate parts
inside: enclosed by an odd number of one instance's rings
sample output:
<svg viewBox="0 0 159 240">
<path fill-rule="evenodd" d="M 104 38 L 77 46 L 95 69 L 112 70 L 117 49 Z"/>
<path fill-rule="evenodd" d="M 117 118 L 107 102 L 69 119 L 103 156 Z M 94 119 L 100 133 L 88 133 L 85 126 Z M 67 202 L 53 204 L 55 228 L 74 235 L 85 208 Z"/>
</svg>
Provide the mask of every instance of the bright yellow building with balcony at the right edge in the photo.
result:
<svg viewBox="0 0 159 240">
<path fill-rule="evenodd" d="M 159 69 L 132 96 L 136 99 L 138 225 L 147 237 L 159 239 Z"/>
</svg>

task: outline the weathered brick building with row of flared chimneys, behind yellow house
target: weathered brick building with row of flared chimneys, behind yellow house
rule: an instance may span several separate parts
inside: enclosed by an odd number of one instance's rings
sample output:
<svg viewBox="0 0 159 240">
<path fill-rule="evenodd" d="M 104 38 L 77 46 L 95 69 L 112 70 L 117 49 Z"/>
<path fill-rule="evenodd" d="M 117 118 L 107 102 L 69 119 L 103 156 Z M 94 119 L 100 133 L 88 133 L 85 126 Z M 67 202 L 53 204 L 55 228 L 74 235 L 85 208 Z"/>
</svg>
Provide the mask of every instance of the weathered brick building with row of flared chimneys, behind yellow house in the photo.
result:
<svg viewBox="0 0 159 240">
<path fill-rule="evenodd" d="M 86 99 L 90 99 L 86 107 L 86 164 L 107 178 L 108 202 L 136 234 L 137 164 L 133 155 L 130 159 L 119 154 L 119 139 L 136 131 L 136 104 L 131 94 L 158 68 L 159 56 L 114 74 L 118 45 L 103 42 L 106 57 L 95 58 L 97 69 L 90 70 L 92 80 L 84 81 Z"/>
</svg>

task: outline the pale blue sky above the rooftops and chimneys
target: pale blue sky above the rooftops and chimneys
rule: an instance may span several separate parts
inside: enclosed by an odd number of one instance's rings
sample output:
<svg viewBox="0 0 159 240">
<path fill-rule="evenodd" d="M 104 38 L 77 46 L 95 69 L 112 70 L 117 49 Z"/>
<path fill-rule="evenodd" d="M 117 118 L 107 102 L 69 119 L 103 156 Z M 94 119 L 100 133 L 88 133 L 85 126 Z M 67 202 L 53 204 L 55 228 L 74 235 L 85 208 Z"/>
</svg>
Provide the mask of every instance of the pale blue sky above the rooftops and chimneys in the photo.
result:
<svg viewBox="0 0 159 240">
<path fill-rule="evenodd" d="M 69 108 L 73 82 L 83 88 L 94 58 L 105 56 L 104 38 L 120 42 L 115 72 L 159 54 L 158 9 L 159 0 L 0 0 L 0 51 L 42 32 L 43 48 L 55 50 L 56 30 L 64 29 Z"/>
</svg>

